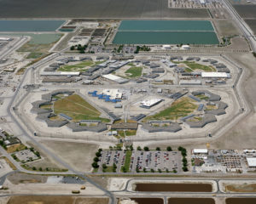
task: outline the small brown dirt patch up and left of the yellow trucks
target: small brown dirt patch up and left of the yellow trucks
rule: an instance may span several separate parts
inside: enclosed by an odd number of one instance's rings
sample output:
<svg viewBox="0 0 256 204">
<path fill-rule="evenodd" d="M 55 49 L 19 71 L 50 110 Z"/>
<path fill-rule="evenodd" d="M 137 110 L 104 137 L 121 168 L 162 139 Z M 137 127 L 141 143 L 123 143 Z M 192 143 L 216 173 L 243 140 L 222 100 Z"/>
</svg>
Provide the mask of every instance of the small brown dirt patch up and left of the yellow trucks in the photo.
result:
<svg viewBox="0 0 256 204">
<path fill-rule="evenodd" d="M 26 173 L 14 173 L 8 176 L 12 184 L 45 183 L 47 176 L 32 175 Z"/>
</svg>

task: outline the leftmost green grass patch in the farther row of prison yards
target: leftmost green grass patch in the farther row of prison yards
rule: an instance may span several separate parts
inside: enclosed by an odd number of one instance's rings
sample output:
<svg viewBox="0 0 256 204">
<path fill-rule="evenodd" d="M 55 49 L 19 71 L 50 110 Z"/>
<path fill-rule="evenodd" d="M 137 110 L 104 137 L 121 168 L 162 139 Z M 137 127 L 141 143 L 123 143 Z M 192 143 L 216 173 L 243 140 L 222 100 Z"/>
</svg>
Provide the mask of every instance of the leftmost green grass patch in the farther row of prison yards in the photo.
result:
<svg viewBox="0 0 256 204">
<path fill-rule="evenodd" d="M 58 71 L 86 71 L 90 66 L 97 65 L 100 63 L 102 63 L 102 61 L 94 62 L 92 60 L 86 60 L 78 64 L 63 65 L 58 69 Z"/>
</svg>

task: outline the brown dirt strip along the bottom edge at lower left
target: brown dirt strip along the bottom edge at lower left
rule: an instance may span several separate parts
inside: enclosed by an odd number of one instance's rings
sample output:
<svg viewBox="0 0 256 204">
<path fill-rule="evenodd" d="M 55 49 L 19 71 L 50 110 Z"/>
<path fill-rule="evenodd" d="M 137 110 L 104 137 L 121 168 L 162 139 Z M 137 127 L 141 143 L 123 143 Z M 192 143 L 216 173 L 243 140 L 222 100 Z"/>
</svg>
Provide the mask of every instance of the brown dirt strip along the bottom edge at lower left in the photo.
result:
<svg viewBox="0 0 256 204">
<path fill-rule="evenodd" d="M 12 196 L 7 204 L 108 204 L 108 198 L 75 196 Z"/>
</svg>

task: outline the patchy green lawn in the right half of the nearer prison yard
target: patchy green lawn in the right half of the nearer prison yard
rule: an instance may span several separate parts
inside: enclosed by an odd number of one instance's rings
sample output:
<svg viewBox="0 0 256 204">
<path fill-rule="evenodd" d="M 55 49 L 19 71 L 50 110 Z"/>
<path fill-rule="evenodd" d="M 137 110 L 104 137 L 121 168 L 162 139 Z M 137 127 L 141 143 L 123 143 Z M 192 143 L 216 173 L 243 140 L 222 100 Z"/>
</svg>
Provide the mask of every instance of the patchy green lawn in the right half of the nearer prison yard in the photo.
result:
<svg viewBox="0 0 256 204">
<path fill-rule="evenodd" d="M 197 105 L 192 99 L 183 97 L 177 99 L 172 105 L 163 111 L 155 114 L 154 116 L 148 116 L 143 121 L 165 121 L 165 120 L 177 120 L 183 116 L 189 116 L 197 109 Z"/>
</svg>

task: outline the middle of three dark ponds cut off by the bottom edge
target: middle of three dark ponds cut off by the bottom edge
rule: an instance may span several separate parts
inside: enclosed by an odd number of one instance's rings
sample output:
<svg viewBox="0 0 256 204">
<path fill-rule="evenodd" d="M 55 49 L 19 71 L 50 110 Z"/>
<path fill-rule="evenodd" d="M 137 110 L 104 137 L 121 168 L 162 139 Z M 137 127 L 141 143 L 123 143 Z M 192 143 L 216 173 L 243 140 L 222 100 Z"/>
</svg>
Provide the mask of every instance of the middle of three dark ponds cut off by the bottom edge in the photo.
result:
<svg viewBox="0 0 256 204">
<path fill-rule="evenodd" d="M 212 198 L 169 198 L 168 204 L 215 204 Z"/>
</svg>

